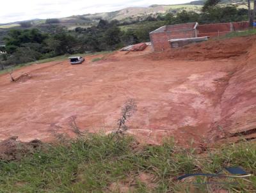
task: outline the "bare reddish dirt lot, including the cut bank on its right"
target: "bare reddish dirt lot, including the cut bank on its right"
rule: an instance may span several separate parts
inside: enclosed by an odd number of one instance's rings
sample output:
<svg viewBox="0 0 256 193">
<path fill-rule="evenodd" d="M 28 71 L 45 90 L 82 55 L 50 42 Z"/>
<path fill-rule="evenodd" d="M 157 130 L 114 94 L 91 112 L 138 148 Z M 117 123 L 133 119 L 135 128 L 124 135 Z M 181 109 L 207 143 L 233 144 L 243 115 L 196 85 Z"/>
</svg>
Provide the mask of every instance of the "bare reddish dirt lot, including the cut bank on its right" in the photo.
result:
<svg viewBox="0 0 256 193">
<path fill-rule="evenodd" d="M 250 46 L 244 45 L 248 38 L 225 41 L 219 46 L 214 41 L 191 45 L 182 50 L 183 59 L 177 50 L 151 54 L 148 47 L 143 52 L 115 52 L 94 63 L 91 57 L 83 65 L 54 61 L 27 66 L 13 75 L 28 73 L 29 79 L 17 82 L 1 75 L 0 139 L 17 135 L 21 141 L 51 141 L 54 132 L 71 135 L 72 116 L 79 128 L 111 132 L 129 98 L 138 104 L 129 133 L 145 143 L 173 136 L 180 144 L 205 144 L 252 131 L 255 38 Z M 222 54 L 218 58 L 214 53 Z"/>
</svg>

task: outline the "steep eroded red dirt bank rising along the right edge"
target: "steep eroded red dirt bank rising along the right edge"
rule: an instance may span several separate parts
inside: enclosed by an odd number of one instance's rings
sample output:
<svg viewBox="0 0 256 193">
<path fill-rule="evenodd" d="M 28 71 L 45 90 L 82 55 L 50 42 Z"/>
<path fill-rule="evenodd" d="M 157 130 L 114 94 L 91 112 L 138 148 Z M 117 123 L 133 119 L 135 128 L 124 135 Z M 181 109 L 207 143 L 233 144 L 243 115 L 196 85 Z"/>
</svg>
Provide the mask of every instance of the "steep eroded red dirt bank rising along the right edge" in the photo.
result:
<svg viewBox="0 0 256 193">
<path fill-rule="evenodd" d="M 220 99 L 221 121 L 226 132 L 256 138 L 256 46 L 240 61 Z"/>
</svg>

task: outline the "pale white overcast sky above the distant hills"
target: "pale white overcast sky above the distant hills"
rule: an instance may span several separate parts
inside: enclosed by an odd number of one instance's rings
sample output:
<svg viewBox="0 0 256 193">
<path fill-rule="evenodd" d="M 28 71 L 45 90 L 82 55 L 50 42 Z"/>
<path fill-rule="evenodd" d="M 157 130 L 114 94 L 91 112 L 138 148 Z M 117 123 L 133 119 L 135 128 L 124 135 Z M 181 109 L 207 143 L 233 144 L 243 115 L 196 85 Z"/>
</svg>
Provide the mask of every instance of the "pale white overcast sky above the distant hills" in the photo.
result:
<svg viewBox="0 0 256 193">
<path fill-rule="evenodd" d="M 193 0 L 1 0 L 0 24 L 29 19 L 49 19 L 113 12 L 131 6 L 180 4 Z"/>
</svg>

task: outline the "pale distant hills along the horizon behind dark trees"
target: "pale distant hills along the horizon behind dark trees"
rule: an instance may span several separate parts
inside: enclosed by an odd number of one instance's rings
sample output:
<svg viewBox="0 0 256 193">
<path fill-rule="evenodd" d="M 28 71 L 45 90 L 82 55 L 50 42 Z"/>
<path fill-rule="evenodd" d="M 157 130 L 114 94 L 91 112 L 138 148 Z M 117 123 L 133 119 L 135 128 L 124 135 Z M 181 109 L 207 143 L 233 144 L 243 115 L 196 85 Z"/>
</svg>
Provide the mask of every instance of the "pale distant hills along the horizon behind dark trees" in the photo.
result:
<svg viewBox="0 0 256 193">
<path fill-rule="evenodd" d="M 129 7 L 115 12 L 106 13 L 94 13 L 84 15 L 72 15 L 70 17 L 60 18 L 60 25 L 66 26 L 72 30 L 76 27 L 91 27 L 96 26 L 100 19 L 104 20 L 119 20 L 120 22 L 132 22 L 134 20 L 145 20 L 148 16 L 154 16 L 165 14 L 167 12 L 177 13 L 181 10 L 186 11 L 200 11 L 206 0 L 191 1 L 184 4 L 152 4 L 148 7 Z M 244 1 L 244 0 L 241 0 Z M 230 3 L 230 0 L 222 0 L 223 4 Z M 11 22 L 8 24 L 0 24 L 0 36 L 3 36 L 4 31 L 9 28 L 20 28 L 21 22 L 31 22 L 32 27 L 37 27 L 44 31 L 47 28 L 45 19 L 32 19 L 25 21 Z M 1 39 L 1 38 L 0 38 Z M 2 41 L 0 40 L 0 43 Z"/>
</svg>

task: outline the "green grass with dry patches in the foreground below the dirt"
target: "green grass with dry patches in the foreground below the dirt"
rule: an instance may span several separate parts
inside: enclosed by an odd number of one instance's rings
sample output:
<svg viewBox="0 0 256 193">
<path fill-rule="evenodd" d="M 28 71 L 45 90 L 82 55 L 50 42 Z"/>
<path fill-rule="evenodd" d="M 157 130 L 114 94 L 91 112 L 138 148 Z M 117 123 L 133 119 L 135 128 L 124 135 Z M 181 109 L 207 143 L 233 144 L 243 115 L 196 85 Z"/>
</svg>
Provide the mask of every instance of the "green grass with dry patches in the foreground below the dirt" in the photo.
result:
<svg viewBox="0 0 256 193">
<path fill-rule="evenodd" d="M 232 144 L 198 155 L 172 140 L 138 147 L 130 137 L 117 141 L 111 135 L 88 134 L 70 143 L 45 145 L 19 161 L 0 160 L 0 192 L 120 192 L 113 189 L 116 183 L 130 192 L 255 192 L 255 176 L 208 178 L 232 182 L 220 185 L 193 185 L 205 183 L 204 177 L 175 180 L 180 174 L 217 173 L 228 166 L 241 166 L 255 175 L 256 144 Z M 153 176 L 152 181 L 139 178 L 142 173 Z"/>
</svg>

